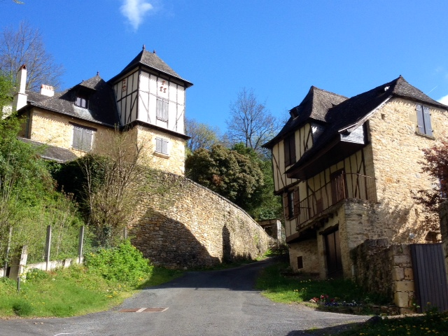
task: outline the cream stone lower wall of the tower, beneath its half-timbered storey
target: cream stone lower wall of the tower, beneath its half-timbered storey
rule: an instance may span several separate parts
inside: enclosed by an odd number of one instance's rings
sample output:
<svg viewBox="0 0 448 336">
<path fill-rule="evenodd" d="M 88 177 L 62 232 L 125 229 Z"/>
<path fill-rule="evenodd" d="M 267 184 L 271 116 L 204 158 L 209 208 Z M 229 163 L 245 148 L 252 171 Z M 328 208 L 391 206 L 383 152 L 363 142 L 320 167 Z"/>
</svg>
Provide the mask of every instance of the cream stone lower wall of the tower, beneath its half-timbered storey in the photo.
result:
<svg viewBox="0 0 448 336">
<path fill-rule="evenodd" d="M 168 155 L 155 152 L 156 137 L 169 141 Z M 185 174 L 185 141 L 183 139 L 158 130 L 148 130 L 139 125 L 137 126 L 137 141 L 144 145 L 143 160 L 148 160 L 147 165 L 164 172 L 181 176 Z"/>
</svg>

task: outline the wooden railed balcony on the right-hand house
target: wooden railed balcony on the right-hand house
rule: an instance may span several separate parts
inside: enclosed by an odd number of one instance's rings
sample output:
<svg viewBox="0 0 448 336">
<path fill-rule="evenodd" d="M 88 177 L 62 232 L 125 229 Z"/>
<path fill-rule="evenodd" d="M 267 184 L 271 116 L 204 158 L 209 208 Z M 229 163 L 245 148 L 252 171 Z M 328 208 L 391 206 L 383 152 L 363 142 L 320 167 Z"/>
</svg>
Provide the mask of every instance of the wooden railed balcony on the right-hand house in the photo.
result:
<svg viewBox="0 0 448 336">
<path fill-rule="evenodd" d="M 340 172 L 331 181 L 302 200 L 297 209 L 297 230 L 323 216 L 325 210 L 342 200 L 358 199 L 377 202 L 375 179 L 361 174 Z"/>
</svg>

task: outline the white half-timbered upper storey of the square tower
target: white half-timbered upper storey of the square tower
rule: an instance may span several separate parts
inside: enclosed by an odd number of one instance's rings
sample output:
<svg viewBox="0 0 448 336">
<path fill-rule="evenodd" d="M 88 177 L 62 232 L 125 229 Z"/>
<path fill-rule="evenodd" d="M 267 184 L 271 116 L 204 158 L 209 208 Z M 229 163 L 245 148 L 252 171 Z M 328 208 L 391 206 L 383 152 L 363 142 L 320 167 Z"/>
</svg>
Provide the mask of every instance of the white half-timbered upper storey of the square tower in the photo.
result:
<svg viewBox="0 0 448 336">
<path fill-rule="evenodd" d="M 114 85 L 121 123 L 134 120 L 185 134 L 185 86 L 136 70 Z"/>
</svg>

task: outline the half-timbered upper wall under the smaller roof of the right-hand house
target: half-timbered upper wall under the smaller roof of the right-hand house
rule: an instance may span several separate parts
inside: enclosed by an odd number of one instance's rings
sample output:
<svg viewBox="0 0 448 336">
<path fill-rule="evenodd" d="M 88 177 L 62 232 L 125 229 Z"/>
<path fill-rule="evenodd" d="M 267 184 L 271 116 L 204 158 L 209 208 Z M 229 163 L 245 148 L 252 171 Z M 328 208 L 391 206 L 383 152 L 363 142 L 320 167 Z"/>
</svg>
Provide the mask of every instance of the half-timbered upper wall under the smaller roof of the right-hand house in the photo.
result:
<svg viewBox="0 0 448 336">
<path fill-rule="evenodd" d="M 310 124 L 304 125 L 294 133 L 295 137 L 295 158 L 299 160 L 305 151 L 313 146 L 313 132 L 318 132 L 318 127 L 311 127 Z M 291 162 L 293 165 L 295 162 Z M 272 148 L 272 164 L 274 165 L 274 190 L 276 193 L 281 192 L 284 188 L 297 183 L 297 179 L 289 179 L 285 172 L 290 167 L 285 166 L 285 147 L 284 139 L 279 141 Z"/>
</svg>

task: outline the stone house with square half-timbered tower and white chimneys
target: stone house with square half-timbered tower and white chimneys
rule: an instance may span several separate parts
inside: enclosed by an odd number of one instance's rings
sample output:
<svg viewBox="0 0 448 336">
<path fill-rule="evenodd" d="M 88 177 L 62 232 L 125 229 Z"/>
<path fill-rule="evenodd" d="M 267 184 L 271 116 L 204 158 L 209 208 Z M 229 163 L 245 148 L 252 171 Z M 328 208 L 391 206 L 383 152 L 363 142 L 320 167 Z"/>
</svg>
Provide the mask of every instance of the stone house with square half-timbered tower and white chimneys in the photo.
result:
<svg viewBox="0 0 448 336">
<path fill-rule="evenodd" d="M 145 48 L 116 76 L 99 73 L 63 92 L 48 85 L 25 90 L 18 74 L 13 106 L 25 117 L 19 136 L 47 145 L 44 156 L 65 162 L 108 146 L 108 131 L 130 132 L 144 144 L 146 159 L 165 172 L 184 174 L 186 89 L 193 85 Z"/>
</svg>

